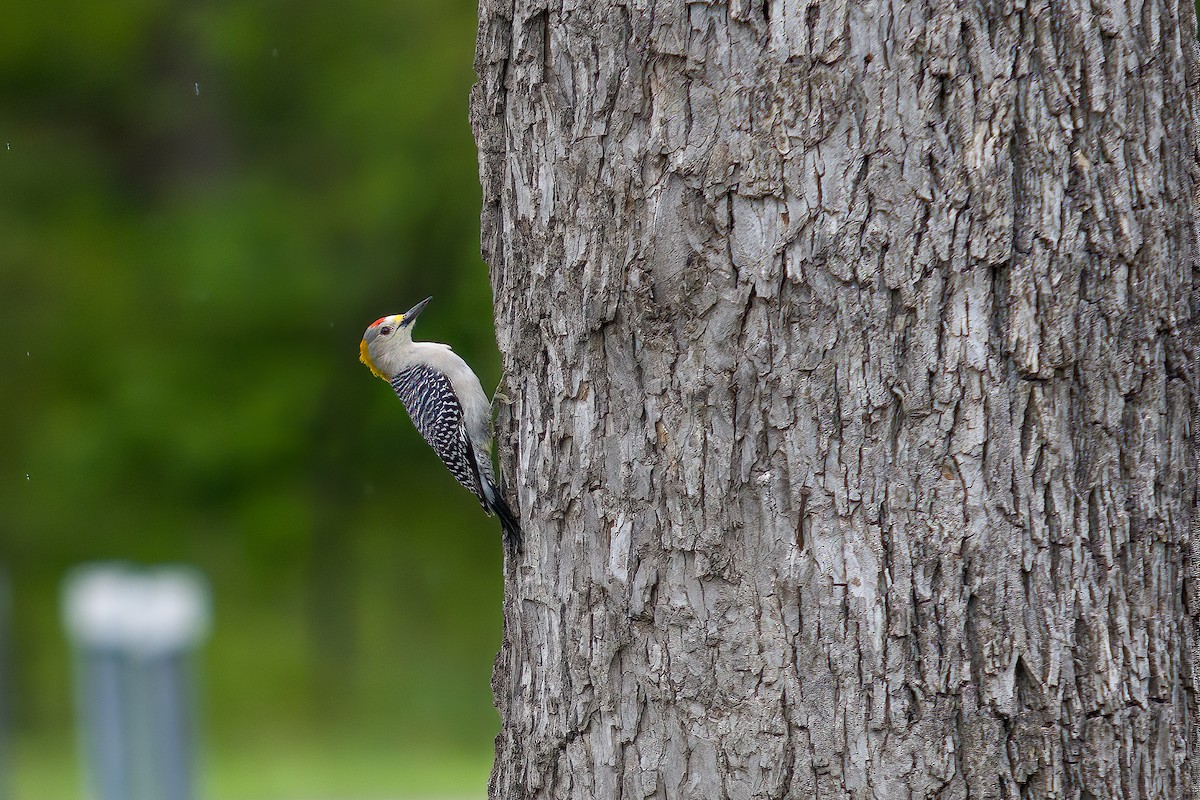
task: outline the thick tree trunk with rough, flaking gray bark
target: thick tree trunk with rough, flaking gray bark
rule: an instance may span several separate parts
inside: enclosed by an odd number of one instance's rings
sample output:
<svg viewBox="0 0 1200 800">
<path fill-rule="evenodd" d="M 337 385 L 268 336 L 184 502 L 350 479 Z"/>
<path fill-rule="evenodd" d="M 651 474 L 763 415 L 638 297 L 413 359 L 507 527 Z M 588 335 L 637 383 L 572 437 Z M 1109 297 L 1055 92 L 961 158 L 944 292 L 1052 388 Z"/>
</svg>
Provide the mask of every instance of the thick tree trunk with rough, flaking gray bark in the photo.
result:
<svg viewBox="0 0 1200 800">
<path fill-rule="evenodd" d="M 481 0 L 491 796 L 1177 800 L 1189 0 Z"/>
</svg>

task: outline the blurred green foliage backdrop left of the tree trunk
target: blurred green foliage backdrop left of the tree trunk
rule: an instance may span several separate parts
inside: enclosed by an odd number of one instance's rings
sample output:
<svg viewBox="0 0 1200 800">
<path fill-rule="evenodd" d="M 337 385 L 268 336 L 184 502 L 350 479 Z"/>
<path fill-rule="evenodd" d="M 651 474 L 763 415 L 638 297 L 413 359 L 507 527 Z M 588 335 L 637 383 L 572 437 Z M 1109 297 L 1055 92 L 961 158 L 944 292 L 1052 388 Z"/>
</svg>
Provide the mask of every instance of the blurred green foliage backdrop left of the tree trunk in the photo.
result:
<svg viewBox="0 0 1200 800">
<path fill-rule="evenodd" d="M 253 742 L 486 758 L 499 528 L 358 363 L 371 320 L 433 295 L 418 337 L 498 381 L 474 35 L 464 0 L 5 10 L 18 770 L 23 741 L 70 750 L 59 582 L 95 559 L 209 576 L 215 770 Z"/>
</svg>

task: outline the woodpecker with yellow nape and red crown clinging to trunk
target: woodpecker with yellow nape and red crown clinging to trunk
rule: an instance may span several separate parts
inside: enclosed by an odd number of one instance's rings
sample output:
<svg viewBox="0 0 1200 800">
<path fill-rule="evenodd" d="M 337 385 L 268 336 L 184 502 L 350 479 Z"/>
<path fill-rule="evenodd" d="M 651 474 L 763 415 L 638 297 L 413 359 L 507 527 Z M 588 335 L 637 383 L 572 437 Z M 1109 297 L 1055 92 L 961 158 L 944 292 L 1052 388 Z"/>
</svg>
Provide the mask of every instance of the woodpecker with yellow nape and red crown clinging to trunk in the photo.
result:
<svg viewBox="0 0 1200 800">
<path fill-rule="evenodd" d="M 413 341 L 413 321 L 432 299 L 371 323 L 359 361 L 391 385 L 421 437 L 484 511 L 500 518 L 505 543 L 520 553 L 521 527 L 492 473 L 492 404 L 479 378 L 449 344 Z"/>
</svg>

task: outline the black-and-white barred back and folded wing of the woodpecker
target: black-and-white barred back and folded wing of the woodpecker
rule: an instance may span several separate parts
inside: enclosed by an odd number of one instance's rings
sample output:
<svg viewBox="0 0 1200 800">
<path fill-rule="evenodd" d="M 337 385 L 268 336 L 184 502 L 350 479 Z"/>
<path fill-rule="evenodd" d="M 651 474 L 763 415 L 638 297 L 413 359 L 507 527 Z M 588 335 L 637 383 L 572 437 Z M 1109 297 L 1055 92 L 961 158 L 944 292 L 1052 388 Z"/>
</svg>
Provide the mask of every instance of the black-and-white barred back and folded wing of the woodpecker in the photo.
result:
<svg viewBox="0 0 1200 800">
<path fill-rule="evenodd" d="M 454 392 L 450 379 L 433 367 L 416 365 L 408 367 L 391 379 L 404 410 L 421 437 L 430 443 L 433 452 L 446 465 L 455 480 L 479 498 L 480 505 L 491 513 L 484 482 L 490 475 L 480 475 L 475 447 L 462 422 L 462 405 Z M 487 453 L 482 455 L 485 458 Z M 487 487 L 487 494 L 492 493 Z"/>
</svg>

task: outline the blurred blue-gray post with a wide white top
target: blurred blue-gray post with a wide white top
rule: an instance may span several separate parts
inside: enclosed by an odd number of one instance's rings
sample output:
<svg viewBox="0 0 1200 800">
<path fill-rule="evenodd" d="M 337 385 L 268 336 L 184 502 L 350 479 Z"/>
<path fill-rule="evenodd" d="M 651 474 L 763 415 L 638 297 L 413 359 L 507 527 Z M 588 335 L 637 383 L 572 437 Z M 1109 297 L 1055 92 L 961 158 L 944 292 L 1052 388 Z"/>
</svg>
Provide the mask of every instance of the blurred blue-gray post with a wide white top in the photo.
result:
<svg viewBox="0 0 1200 800">
<path fill-rule="evenodd" d="M 208 589 L 186 569 L 88 566 L 64 584 L 82 747 L 95 800 L 193 800 L 190 655 Z"/>
</svg>

